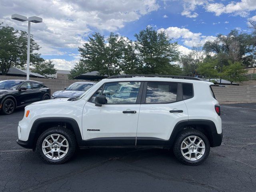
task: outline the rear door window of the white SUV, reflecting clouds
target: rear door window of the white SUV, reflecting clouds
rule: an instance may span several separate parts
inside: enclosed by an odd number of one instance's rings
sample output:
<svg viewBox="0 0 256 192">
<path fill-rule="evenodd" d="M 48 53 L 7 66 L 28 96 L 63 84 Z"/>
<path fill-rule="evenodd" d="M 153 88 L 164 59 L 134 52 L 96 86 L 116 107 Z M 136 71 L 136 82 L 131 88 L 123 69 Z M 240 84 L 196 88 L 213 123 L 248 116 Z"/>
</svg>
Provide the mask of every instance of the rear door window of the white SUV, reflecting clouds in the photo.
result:
<svg viewBox="0 0 256 192">
<path fill-rule="evenodd" d="M 148 82 L 146 103 L 170 103 L 177 100 L 178 83 Z"/>
</svg>

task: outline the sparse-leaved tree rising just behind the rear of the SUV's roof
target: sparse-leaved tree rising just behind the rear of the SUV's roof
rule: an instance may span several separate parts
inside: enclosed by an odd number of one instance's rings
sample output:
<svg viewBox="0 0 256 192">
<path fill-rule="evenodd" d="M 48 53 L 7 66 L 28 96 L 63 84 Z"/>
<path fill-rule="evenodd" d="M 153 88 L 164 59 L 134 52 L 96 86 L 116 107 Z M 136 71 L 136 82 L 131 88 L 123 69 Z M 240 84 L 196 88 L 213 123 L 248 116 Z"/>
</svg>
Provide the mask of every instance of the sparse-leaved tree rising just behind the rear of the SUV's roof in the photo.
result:
<svg viewBox="0 0 256 192">
<path fill-rule="evenodd" d="M 188 55 L 180 56 L 182 64 L 182 74 L 186 76 L 195 76 L 199 62 L 203 60 L 202 47 L 193 47 Z"/>
</svg>

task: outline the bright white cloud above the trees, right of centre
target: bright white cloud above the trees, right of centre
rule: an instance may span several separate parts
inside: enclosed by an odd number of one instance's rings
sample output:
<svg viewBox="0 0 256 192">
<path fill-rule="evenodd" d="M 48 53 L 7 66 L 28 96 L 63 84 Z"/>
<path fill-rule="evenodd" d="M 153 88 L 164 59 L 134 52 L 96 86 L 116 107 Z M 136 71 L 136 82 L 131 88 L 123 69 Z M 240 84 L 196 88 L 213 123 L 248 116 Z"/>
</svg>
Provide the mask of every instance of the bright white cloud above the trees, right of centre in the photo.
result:
<svg viewBox="0 0 256 192">
<path fill-rule="evenodd" d="M 203 45 L 208 40 L 214 40 L 214 36 L 203 36 L 202 33 L 193 33 L 186 28 L 168 27 L 158 29 L 158 32 L 165 31 L 170 38 L 179 39 L 188 47 Z"/>
</svg>

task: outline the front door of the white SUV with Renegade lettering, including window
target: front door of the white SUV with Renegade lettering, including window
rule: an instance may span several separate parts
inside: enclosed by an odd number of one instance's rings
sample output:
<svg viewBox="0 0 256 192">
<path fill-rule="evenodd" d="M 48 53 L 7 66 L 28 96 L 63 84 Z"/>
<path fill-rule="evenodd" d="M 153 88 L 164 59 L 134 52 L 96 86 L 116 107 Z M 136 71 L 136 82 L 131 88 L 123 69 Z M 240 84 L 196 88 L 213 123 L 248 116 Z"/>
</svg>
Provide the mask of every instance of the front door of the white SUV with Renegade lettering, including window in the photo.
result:
<svg viewBox="0 0 256 192">
<path fill-rule="evenodd" d="M 142 82 L 105 83 L 83 110 L 82 129 L 87 146 L 134 146 Z M 95 97 L 104 95 L 107 104 L 95 106 Z"/>
</svg>

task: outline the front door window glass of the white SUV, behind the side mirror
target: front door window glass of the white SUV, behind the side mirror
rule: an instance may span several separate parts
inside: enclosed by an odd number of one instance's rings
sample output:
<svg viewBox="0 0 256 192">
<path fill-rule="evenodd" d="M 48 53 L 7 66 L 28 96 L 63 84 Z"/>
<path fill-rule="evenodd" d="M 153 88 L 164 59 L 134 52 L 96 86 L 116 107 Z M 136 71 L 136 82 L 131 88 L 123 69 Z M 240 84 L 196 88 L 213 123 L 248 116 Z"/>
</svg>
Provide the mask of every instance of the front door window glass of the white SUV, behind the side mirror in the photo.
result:
<svg viewBox="0 0 256 192">
<path fill-rule="evenodd" d="M 112 82 L 106 83 L 104 90 L 99 89 L 91 98 L 95 102 L 95 97 L 104 95 L 107 104 L 136 104 L 140 89 L 140 82 Z"/>
</svg>

